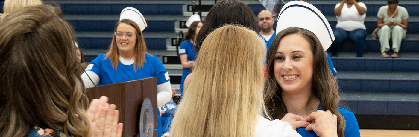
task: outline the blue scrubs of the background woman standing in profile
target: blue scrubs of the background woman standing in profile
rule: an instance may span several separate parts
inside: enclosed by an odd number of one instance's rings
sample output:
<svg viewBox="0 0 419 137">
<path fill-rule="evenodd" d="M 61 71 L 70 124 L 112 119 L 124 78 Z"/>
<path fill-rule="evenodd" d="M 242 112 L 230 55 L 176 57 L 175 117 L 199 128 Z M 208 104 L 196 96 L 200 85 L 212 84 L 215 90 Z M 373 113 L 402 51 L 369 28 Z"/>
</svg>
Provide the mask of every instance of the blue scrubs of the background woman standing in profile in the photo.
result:
<svg viewBox="0 0 419 137">
<path fill-rule="evenodd" d="M 186 54 L 188 55 L 188 61 L 195 61 L 197 58 L 197 51 L 195 46 L 192 45 L 190 40 L 184 40 L 181 42 L 181 48 L 179 49 L 179 55 Z M 181 78 L 181 97 L 183 97 L 183 87 L 186 76 L 188 76 L 192 71 L 192 67 L 190 68 L 183 68 L 182 78 Z"/>
</svg>

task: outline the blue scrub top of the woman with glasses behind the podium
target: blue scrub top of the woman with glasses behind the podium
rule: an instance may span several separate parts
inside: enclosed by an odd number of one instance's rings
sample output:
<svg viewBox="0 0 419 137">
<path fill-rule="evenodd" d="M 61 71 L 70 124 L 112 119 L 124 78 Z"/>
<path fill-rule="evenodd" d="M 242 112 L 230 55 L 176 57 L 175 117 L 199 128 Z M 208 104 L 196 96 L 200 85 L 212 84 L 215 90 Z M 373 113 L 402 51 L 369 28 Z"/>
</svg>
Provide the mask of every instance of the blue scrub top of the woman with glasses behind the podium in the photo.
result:
<svg viewBox="0 0 419 137">
<path fill-rule="evenodd" d="M 105 57 L 106 54 L 101 53 L 91 62 L 93 66 L 90 70 L 95 72 L 100 78 L 98 85 L 126 82 L 147 77 L 157 77 L 157 84 L 170 81 L 166 68 L 156 56 L 145 54 L 143 67 L 137 67 L 137 72 L 134 72 L 134 64 L 124 65 L 121 62 L 119 62 L 118 67 L 114 70 L 111 60 L 104 60 Z"/>
</svg>

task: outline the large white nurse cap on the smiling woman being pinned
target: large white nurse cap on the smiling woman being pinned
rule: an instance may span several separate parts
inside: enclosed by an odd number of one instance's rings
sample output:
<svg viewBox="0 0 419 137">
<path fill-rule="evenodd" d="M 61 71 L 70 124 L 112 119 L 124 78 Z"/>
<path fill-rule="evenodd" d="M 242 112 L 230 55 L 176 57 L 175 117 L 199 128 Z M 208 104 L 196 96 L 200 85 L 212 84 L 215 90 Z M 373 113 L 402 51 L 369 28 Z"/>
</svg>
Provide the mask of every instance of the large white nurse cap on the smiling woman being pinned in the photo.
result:
<svg viewBox="0 0 419 137">
<path fill-rule="evenodd" d="M 288 27 L 300 27 L 313 32 L 324 50 L 327 50 L 335 40 L 329 22 L 313 5 L 294 0 L 282 7 L 278 16 L 277 34 Z"/>
</svg>

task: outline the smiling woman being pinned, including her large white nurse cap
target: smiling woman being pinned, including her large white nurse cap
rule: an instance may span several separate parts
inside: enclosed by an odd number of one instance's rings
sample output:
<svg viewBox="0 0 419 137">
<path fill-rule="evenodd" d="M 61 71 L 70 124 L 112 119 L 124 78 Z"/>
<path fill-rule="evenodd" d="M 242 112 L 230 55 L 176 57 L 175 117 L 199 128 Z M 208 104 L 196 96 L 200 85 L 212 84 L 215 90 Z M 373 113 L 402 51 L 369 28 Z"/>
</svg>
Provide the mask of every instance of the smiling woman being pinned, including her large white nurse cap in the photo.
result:
<svg viewBox="0 0 419 137">
<path fill-rule="evenodd" d="M 360 137 L 354 114 L 338 106 L 339 86 L 325 54 L 334 35 L 324 15 L 307 2 L 288 2 L 279 13 L 277 32 L 266 60 L 269 115 L 281 119 L 293 113 L 309 121 L 313 113 L 326 111 L 336 115 L 339 125 L 335 133 L 339 137 Z M 316 129 L 296 130 L 303 137 L 321 136 Z"/>
</svg>

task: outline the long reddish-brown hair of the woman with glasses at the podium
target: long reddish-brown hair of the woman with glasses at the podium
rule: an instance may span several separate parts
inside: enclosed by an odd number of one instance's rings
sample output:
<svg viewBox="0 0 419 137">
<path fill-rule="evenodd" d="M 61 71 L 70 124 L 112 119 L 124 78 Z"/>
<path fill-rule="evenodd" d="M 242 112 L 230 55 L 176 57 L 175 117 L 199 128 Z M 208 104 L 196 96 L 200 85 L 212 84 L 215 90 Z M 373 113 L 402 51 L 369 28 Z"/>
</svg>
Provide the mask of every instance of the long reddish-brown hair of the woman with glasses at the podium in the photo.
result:
<svg viewBox="0 0 419 137">
<path fill-rule="evenodd" d="M 121 20 L 119 22 L 116 22 L 114 32 L 116 32 L 116 28 L 118 28 L 118 25 L 121 24 L 121 23 L 131 25 L 137 31 L 137 32 L 135 32 L 135 35 L 137 35 L 137 41 L 135 42 L 135 47 L 134 47 L 134 50 L 135 50 L 134 51 L 135 52 L 134 72 L 137 72 L 137 70 L 138 70 L 137 67 L 142 68 L 142 66 L 145 62 L 145 53 L 147 52 L 147 47 L 145 46 L 144 37 L 143 37 L 142 32 L 140 30 L 140 27 L 138 27 L 137 23 L 135 23 L 132 20 L 128 20 L 128 19 L 124 19 L 124 20 Z M 118 67 L 118 64 L 119 64 L 119 50 L 118 50 L 118 46 L 116 45 L 116 36 L 115 35 L 112 38 L 111 45 L 109 46 L 109 52 L 106 53 L 106 57 L 103 60 L 106 60 L 108 58 L 109 58 L 109 60 L 111 60 L 112 67 L 114 68 L 114 70 L 116 70 L 116 68 Z"/>
</svg>

